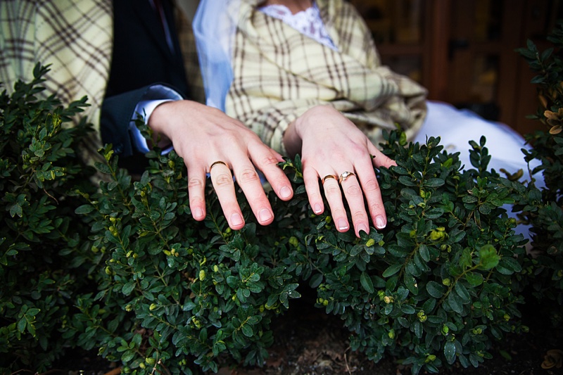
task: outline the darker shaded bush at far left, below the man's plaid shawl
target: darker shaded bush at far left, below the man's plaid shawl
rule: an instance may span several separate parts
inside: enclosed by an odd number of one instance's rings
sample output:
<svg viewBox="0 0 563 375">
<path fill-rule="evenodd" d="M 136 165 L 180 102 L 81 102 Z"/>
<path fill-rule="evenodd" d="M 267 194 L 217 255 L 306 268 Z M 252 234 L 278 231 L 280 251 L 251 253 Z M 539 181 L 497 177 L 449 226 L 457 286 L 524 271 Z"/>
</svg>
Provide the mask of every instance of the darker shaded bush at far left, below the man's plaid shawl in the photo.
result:
<svg viewBox="0 0 563 375">
<path fill-rule="evenodd" d="M 94 192 L 94 174 L 75 150 L 85 122 L 65 127 L 86 99 L 63 108 L 42 100 L 45 67 L 0 94 L 0 368 L 49 369 L 63 348 L 77 293 L 89 280 L 88 227 L 69 193 Z M 2 371 L 4 372 L 4 371 Z"/>
</svg>

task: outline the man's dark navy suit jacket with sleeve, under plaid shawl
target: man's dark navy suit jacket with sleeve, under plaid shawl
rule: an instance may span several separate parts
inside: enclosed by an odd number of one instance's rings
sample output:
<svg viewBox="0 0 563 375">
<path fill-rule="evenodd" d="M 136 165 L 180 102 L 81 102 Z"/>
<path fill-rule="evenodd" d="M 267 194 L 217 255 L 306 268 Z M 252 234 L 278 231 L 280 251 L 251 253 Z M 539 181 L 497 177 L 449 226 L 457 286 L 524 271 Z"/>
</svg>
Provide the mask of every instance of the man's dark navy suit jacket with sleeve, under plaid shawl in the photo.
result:
<svg viewBox="0 0 563 375">
<path fill-rule="evenodd" d="M 152 84 L 165 84 L 186 97 L 188 81 L 175 32 L 172 4 L 161 0 L 172 34 L 168 47 L 163 25 L 148 0 L 114 0 L 113 56 L 110 77 L 101 108 L 103 143 L 113 144 L 122 166 L 146 165 L 144 157 L 127 160 L 136 150 L 127 128 L 134 108 Z M 142 155 L 141 155 L 142 156 Z"/>
</svg>

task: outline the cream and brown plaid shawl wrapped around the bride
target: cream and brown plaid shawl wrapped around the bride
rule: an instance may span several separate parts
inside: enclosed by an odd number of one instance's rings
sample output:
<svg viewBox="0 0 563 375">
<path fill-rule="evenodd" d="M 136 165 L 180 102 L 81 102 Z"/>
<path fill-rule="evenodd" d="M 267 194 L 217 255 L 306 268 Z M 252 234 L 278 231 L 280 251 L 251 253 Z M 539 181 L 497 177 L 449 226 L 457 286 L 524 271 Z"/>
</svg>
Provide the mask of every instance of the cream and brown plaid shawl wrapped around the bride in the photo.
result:
<svg viewBox="0 0 563 375">
<path fill-rule="evenodd" d="M 288 125 L 312 106 L 340 110 L 369 136 L 398 123 L 412 139 L 426 115 L 426 90 L 381 65 L 364 21 L 348 2 L 317 0 L 327 32 L 339 51 L 271 18 L 242 0 L 234 46 L 234 82 L 228 115 L 285 153 Z"/>
</svg>

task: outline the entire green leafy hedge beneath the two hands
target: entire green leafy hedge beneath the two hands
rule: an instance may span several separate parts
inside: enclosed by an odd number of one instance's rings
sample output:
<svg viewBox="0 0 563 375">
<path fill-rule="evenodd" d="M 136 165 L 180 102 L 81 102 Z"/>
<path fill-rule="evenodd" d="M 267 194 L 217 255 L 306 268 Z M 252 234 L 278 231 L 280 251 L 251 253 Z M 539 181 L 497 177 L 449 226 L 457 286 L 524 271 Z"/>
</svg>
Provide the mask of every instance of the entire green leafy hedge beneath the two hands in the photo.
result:
<svg viewBox="0 0 563 375">
<path fill-rule="evenodd" d="M 557 31 L 553 41 L 563 46 L 562 37 Z M 563 111 L 563 64 L 534 48 L 520 52 L 540 72 L 538 118 L 550 122 Z M 33 82 L 0 96 L 3 372 L 49 369 L 73 346 L 98 350 L 125 373 L 260 366 L 274 319 L 303 288 L 342 319 L 353 350 L 376 362 L 393 355 L 413 374 L 479 367 L 493 341 L 525 333 L 520 307 L 530 303 L 529 288 L 559 322 L 563 141 L 553 129 L 534 134 L 538 147 L 526 154 L 543 162 L 541 191 L 489 170 L 484 138 L 470 143 L 472 167 L 463 168 L 440 139 L 405 144 L 398 130 L 381 145 L 398 165 L 377 171 L 384 230 L 358 239 L 336 231 L 329 212 L 314 215 L 297 157 L 280 165 L 294 198 L 269 194 L 274 223 L 256 224 L 239 193 L 248 224 L 232 231 L 211 186 L 208 216 L 191 219 L 174 152 L 151 151 L 134 180 L 106 146 L 94 184 L 75 153 L 89 127 L 62 125 L 85 99 L 68 108 L 53 96 L 39 100 L 45 71 L 38 65 Z M 535 258 L 514 231 L 521 221 L 533 226 Z"/>
</svg>

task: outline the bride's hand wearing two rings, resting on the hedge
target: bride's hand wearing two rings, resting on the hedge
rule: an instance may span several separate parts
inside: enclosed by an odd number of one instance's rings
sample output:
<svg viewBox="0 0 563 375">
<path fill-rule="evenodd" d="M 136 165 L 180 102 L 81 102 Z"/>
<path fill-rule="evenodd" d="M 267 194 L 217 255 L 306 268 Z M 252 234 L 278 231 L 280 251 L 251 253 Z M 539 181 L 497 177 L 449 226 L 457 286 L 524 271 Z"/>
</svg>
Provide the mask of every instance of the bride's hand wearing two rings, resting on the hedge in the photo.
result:
<svg viewBox="0 0 563 375">
<path fill-rule="evenodd" d="M 360 236 L 360 231 L 369 233 L 369 217 L 377 229 L 386 226 L 374 165 L 391 167 L 396 163 L 338 110 L 330 106 L 311 108 L 286 129 L 284 145 L 290 154 L 301 154 L 303 180 L 313 212 L 324 211 L 321 179 L 339 231 L 349 229 L 341 191 L 348 202 L 356 236 Z"/>
</svg>

